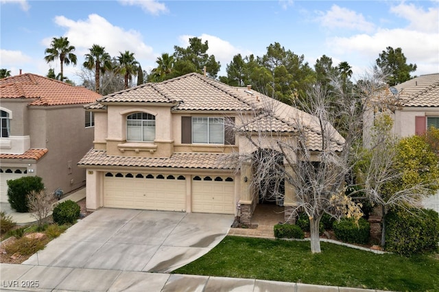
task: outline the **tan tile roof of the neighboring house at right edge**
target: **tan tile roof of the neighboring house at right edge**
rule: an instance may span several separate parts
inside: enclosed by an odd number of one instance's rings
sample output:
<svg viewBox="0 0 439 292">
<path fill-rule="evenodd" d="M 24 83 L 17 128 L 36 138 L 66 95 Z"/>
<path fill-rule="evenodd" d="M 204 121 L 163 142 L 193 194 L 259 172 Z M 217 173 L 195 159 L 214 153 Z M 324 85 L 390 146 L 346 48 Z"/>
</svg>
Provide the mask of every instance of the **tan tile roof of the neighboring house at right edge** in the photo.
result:
<svg viewBox="0 0 439 292">
<path fill-rule="evenodd" d="M 439 73 L 421 75 L 394 87 L 403 106 L 439 106 Z"/>
</svg>

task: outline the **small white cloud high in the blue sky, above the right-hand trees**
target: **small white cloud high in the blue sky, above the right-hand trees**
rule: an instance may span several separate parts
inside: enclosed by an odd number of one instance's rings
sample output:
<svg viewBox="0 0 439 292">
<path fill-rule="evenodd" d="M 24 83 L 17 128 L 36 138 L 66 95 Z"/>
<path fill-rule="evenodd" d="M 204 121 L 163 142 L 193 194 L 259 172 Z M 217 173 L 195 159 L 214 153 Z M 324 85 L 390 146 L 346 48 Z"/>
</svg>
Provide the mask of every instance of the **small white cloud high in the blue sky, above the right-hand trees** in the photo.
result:
<svg viewBox="0 0 439 292">
<path fill-rule="evenodd" d="M 320 16 L 317 21 L 320 25 L 329 29 L 350 29 L 358 30 L 360 32 L 372 32 L 375 28 L 373 23 L 364 19 L 363 14 L 357 13 L 347 8 L 342 8 L 338 5 L 332 5 L 331 10 L 327 12 L 317 12 Z"/>
</svg>

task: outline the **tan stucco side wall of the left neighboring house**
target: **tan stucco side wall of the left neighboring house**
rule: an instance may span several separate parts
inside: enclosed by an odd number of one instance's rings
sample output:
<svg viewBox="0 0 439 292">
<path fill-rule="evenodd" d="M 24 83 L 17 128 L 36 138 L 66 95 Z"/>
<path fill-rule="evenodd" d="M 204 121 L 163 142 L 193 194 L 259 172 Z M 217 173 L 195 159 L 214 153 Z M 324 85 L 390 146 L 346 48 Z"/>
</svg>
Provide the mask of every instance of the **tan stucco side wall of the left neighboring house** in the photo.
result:
<svg viewBox="0 0 439 292">
<path fill-rule="evenodd" d="M 29 108 L 32 148 L 49 151 L 38 160 L 38 176 L 48 193 L 68 193 L 85 185 L 85 170 L 78 161 L 93 147 L 93 127 L 85 127 L 83 105 Z"/>
</svg>

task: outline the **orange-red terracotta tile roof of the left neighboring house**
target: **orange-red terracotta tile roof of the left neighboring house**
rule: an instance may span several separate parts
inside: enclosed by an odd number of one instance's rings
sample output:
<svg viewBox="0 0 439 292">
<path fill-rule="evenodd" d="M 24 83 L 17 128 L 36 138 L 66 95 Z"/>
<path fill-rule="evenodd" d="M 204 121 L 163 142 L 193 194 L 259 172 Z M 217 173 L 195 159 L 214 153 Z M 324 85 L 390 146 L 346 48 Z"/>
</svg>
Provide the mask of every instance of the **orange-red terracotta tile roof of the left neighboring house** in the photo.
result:
<svg viewBox="0 0 439 292">
<path fill-rule="evenodd" d="M 90 104 L 102 95 L 40 75 L 25 73 L 0 80 L 1 99 L 31 99 L 32 106 Z"/>
</svg>

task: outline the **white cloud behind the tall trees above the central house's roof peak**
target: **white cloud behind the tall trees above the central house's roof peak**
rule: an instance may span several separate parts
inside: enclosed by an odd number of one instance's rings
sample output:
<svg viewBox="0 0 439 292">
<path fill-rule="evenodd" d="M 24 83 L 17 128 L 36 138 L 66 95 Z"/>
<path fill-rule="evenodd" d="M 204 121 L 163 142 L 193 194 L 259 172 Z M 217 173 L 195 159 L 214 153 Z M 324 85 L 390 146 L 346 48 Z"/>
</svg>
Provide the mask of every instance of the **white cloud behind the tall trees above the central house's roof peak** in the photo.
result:
<svg viewBox="0 0 439 292">
<path fill-rule="evenodd" d="M 189 36 L 189 35 L 179 36 L 180 47 L 189 47 L 189 38 L 193 38 L 193 36 Z M 201 36 L 198 36 L 198 38 L 201 38 L 202 42 L 205 42 L 207 40 L 209 45 L 209 49 L 207 50 L 207 53 L 209 53 L 209 55 L 215 56 L 215 60 L 220 62 L 221 73 L 222 71 L 225 72 L 226 65 L 230 63 L 231 60 L 233 60 L 233 56 L 237 55 L 238 53 L 241 53 L 242 57 L 251 54 L 251 51 L 235 47 L 232 44 L 230 44 L 230 42 L 228 42 L 227 40 L 222 40 L 217 36 L 211 36 L 210 34 L 202 34 Z"/>
</svg>

